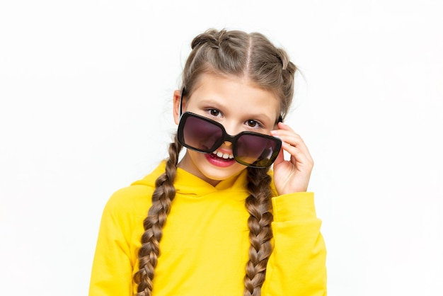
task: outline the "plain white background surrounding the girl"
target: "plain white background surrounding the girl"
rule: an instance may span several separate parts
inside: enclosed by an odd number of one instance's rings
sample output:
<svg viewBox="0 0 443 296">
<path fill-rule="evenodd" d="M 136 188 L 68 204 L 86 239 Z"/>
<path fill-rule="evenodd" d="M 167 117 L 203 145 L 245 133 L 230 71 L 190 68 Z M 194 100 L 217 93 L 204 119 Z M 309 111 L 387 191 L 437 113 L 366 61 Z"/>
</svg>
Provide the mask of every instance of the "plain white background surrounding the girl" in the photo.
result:
<svg viewBox="0 0 443 296">
<path fill-rule="evenodd" d="M 328 295 L 442 295 L 439 2 L 1 1 L 0 295 L 87 294 L 103 206 L 166 155 L 211 27 L 304 73 L 287 123 L 316 161 Z"/>
</svg>

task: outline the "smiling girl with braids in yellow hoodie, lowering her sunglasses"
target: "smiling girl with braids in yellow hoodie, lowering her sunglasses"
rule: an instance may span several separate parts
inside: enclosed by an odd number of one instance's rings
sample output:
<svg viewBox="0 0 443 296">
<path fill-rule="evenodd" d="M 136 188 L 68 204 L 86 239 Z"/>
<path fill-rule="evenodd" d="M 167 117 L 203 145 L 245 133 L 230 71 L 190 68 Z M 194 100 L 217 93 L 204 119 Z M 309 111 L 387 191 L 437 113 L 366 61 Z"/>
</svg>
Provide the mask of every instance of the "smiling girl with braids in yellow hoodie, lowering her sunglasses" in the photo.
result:
<svg viewBox="0 0 443 296">
<path fill-rule="evenodd" d="M 89 295 L 326 295 L 313 161 L 282 123 L 296 70 L 259 33 L 192 40 L 169 157 L 105 206 Z"/>
</svg>

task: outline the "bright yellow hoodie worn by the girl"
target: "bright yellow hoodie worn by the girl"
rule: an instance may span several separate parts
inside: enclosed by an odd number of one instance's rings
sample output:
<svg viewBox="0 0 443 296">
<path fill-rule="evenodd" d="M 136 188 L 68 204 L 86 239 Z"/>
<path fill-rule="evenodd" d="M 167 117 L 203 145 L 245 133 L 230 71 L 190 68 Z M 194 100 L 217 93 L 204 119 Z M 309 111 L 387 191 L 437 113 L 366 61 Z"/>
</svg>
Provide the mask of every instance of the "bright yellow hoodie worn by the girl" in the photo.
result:
<svg viewBox="0 0 443 296">
<path fill-rule="evenodd" d="M 137 292 L 143 220 L 164 162 L 112 195 L 103 210 L 89 296 Z M 246 170 L 212 186 L 177 170 L 176 198 L 163 228 L 153 296 L 241 296 L 248 261 Z M 275 192 L 275 190 L 274 190 Z M 313 193 L 272 198 L 274 249 L 263 296 L 326 295 L 326 247 Z"/>
</svg>

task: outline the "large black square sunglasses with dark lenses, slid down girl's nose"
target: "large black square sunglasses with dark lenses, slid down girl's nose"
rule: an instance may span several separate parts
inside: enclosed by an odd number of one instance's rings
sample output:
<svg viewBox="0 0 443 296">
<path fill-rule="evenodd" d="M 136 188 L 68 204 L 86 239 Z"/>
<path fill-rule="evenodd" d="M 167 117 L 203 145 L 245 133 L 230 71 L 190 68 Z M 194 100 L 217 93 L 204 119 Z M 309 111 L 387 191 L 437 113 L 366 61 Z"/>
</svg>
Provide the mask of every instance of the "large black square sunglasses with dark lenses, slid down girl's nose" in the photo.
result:
<svg viewBox="0 0 443 296">
<path fill-rule="evenodd" d="M 223 125 L 203 116 L 185 112 L 178 124 L 178 141 L 197 152 L 212 153 L 225 141 L 232 143 L 234 159 L 244 166 L 266 168 L 280 153 L 282 141 L 258 132 L 241 132 L 236 136 L 226 133 Z"/>
</svg>

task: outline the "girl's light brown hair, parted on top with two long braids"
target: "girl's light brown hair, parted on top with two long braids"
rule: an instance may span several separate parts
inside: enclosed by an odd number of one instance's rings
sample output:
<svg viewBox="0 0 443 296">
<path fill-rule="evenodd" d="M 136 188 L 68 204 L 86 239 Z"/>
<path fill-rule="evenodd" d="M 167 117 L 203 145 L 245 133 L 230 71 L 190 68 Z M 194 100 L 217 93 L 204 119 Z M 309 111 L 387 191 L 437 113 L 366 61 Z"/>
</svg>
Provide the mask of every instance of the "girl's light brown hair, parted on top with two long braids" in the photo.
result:
<svg viewBox="0 0 443 296">
<path fill-rule="evenodd" d="M 280 115 L 287 115 L 294 95 L 294 74 L 297 67 L 289 61 L 284 50 L 272 45 L 260 33 L 245 33 L 240 30 L 207 30 L 197 35 L 191 43 L 192 51 L 185 63 L 182 76 L 183 99 L 195 88 L 203 73 L 246 76 L 261 88 L 272 91 L 280 99 Z M 151 295 L 152 280 L 159 242 L 171 203 L 176 195 L 173 182 L 176 177 L 178 154 L 181 150 L 177 137 L 169 146 L 166 171 L 156 180 L 152 205 L 144 220 L 145 232 L 139 249 L 139 271 L 134 274 L 137 296 Z M 271 178 L 267 169 L 247 168 L 248 191 L 246 210 L 248 218 L 249 261 L 246 264 L 244 295 L 258 296 L 265 281 L 267 260 L 272 252 Z"/>
</svg>

